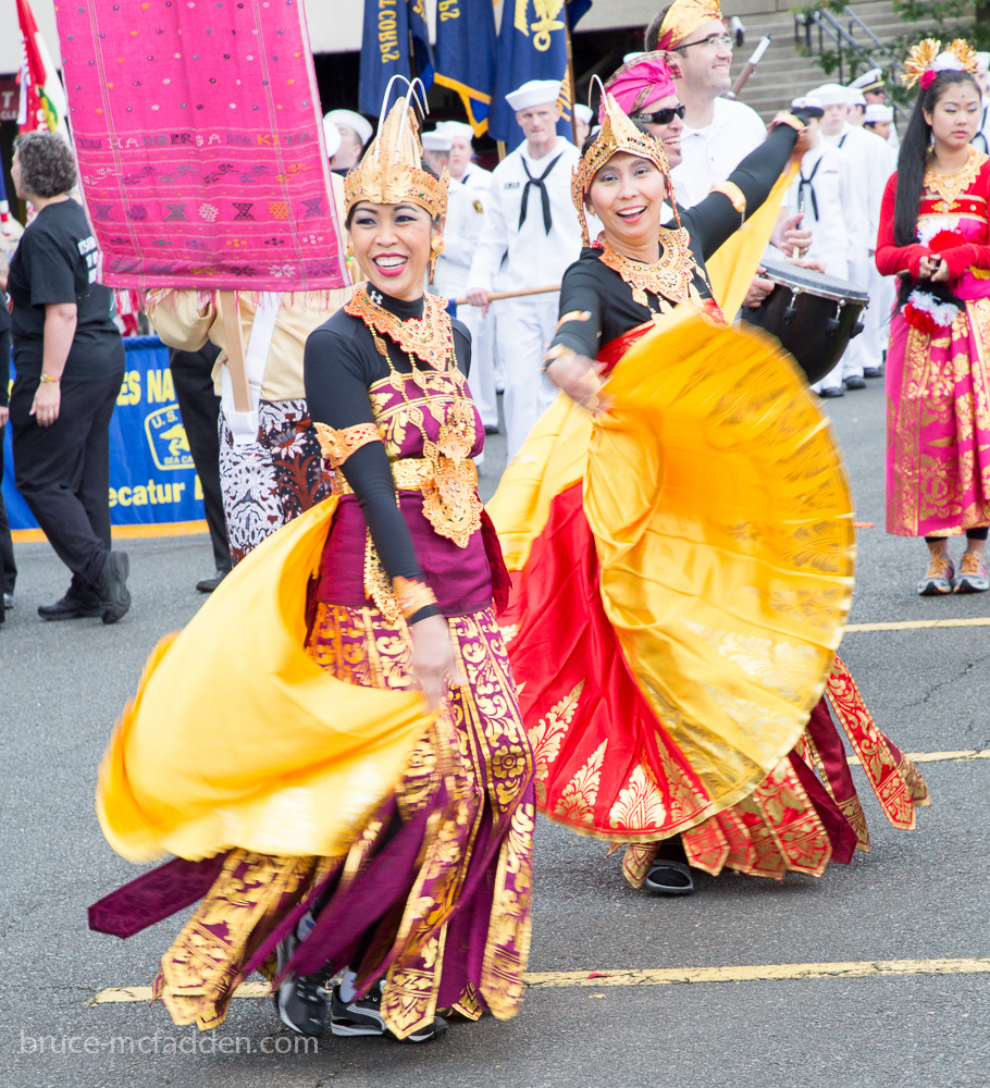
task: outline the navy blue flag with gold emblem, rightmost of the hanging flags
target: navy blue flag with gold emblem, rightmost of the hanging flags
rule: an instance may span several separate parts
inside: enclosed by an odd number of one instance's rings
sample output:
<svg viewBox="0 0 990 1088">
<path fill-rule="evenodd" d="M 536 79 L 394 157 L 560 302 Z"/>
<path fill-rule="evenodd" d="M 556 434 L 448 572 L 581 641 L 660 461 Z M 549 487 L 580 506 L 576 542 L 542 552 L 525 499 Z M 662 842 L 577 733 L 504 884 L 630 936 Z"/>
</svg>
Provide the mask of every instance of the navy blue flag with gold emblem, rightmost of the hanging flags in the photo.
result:
<svg viewBox="0 0 990 1088">
<path fill-rule="evenodd" d="M 495 94 L 488 132 L 511 149 L 522 141 L 515 111 L 505 100 L 530 79 L 560 79 L 560 122 L 557 132 L 570 136 L 573 88 L 567 64 L 568 23 L 571 26 L 591 8 L 591 0 L 505 0 L 498 35 Z"/>
</svg>

